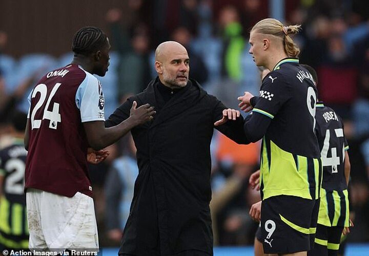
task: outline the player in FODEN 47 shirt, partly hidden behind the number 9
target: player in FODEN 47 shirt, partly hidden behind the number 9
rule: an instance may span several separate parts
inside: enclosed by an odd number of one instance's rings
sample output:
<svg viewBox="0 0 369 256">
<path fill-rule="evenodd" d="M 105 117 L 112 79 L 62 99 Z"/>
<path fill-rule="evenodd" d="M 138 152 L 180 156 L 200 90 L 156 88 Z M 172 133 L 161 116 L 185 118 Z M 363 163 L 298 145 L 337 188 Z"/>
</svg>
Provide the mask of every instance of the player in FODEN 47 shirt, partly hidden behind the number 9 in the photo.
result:
<svg viewBox="0 0 369 256">
<path fill-rule="evenodd" d="M 303 66 L 313 74 L 317 84 L 318 77 L 315 70 L 308 65 Z M 342 119 L 322 101 L 317 102 L 315 118 L 323 165 L 323 181 L 315 247 L 308 252 L 308 255 L 333 256 L 338 254 L 342 230 L 351 224 L 347 193 L 350 159 Z"/>
</svg>

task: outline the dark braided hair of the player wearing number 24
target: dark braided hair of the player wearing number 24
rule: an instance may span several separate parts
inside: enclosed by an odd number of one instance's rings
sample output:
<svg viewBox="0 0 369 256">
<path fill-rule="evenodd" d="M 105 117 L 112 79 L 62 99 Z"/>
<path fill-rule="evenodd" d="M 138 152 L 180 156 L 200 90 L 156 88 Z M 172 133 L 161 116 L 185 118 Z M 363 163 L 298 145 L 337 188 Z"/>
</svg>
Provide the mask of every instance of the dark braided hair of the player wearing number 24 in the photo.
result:
<svg viewBox="0 0 369 256">
<path fill-rule="evenodd" d="M 103 30 L 96 27 L 84 27 L 78 30 L 72 42 L 74 53 L 89 55 L 107 44 L 107 36 Z"/>
</svg>

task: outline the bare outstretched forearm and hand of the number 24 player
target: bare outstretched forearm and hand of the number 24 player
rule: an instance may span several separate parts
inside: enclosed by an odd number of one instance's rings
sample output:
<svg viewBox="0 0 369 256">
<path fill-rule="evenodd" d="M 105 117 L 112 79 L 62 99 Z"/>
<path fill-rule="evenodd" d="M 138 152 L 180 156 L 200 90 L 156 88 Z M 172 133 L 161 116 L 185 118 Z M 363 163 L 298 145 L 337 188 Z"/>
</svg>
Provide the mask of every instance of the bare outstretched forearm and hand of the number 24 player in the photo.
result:
<svg viewBox="0 0 369 256">
<path fill-rule="evenodd" d="M 84 122 L 88 142 L 94 150 L 113 144 L 120 137 L 128 133 L 133 127 L 153 119 L 155 111 L 150 104 L 141 105 L 136 109 L 137 102 L 133 101 L 130 117 L 118 125 L 105 128 L 104 121 Z"/>
</svg>

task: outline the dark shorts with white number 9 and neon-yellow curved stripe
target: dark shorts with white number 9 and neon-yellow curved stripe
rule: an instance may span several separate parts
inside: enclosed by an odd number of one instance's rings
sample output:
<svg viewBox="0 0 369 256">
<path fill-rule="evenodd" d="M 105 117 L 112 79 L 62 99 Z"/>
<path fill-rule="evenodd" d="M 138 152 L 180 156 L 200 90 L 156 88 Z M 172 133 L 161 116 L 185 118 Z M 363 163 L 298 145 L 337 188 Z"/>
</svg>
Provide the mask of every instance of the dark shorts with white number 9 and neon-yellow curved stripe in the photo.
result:
<svg viewBox="0 0 369 256">
<path fill-rule="evenodd" d="M 294 253 L 314 247 L 319 199 L 274 196 L 261 203 L 264 253 Z"/>
</svg>

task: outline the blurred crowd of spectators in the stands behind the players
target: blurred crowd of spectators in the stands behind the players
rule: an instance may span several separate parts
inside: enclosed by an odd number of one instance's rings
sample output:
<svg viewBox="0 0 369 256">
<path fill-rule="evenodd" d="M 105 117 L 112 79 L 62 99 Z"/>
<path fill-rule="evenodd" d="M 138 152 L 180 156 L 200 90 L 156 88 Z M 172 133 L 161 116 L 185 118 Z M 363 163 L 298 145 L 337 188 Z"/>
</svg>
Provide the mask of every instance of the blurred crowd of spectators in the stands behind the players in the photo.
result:
<svg viewBox="0 0 369 256">
<path fill-rule="evenodd" d="M 269 17 L 268 0 L 126 0 L 124 8 L 106 14 L 112 45 L 109 72 L 99 78 L 108 117 L 127 97 L 144 90 L 155 77 L 154 50 L 165 40 L 185 46 L 190 77 L 230 108 L 237 96 L 258 94 L 260 71 L 248 53 L 251 27 Z M 351 215 L 349 242 L 369 242 L 369 5 L 366 1 L 285 0 L 285 23 L 301 24 L 294 38 L 300 63 L 318 72 L 319 99 L 344 119 L 350 145 Z M 7 42 L 0 32 L 0 147 L 9 143 L 8 114 L 28 112 L 26 100 L 47 71 L 67 65 L 63 56 L 2 54 Z M 298 142 L 296 142 L 298 143 Z M 211 202 L 216 245 L 250 245 L 257 223 L 250 206 L 260 195 L 248 179 L 258 169 L 259 143 L 237 145 L 215 132 L 212 142 Z M 90 166 L 102 246 L 116 246 L 128 218 L 138 169 L 130 136 L 108 148 L 109 158 Z M 106 234 L 106 235 L 105 235 Z"/>
</svg>

